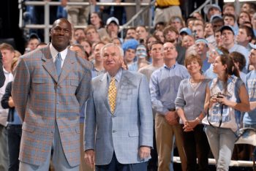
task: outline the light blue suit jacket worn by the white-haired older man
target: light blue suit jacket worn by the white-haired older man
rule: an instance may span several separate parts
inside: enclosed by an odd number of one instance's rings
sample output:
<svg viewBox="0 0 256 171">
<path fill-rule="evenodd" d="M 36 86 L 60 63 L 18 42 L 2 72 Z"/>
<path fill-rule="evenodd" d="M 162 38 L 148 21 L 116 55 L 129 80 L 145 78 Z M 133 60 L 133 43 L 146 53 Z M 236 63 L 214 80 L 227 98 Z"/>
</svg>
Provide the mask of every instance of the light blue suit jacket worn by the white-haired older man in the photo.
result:
<svg viewBox="0 0 256 171">
<path fill-rule="evenodd" d="M 107 73 L 95 77 L 92 86 L 86 106 L 85 150 L 94 149 L 96 165 L 109 164 L 113 151 L 121 164 L 148 161 L 140 160 L 138 155 L 141 145 L 153 146 L 153 116 L 146 77 L 122 71 L 113 115 L 108 103 Z"/>
</svg>

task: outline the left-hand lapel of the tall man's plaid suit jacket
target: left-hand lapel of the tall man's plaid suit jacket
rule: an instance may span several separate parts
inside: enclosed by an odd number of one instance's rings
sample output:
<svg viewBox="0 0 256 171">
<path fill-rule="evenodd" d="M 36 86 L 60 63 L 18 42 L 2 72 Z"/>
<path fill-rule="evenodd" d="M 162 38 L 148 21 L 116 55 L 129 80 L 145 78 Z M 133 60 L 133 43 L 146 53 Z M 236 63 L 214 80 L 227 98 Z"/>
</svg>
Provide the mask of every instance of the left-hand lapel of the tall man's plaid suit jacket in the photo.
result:
<svg viewBox="0 0 256 171">
<path fill-rule="evenodd" d="M 58 76 L 56 73 L 56 67 L 53 64 L 53 57 L 50 54 L 50 46 L 42 49 L 42 66 L 45 68 L 45 70 L 50 74 L 51 77 L 53 77 L 53 80 L 58 83 Z"/>
</svg>

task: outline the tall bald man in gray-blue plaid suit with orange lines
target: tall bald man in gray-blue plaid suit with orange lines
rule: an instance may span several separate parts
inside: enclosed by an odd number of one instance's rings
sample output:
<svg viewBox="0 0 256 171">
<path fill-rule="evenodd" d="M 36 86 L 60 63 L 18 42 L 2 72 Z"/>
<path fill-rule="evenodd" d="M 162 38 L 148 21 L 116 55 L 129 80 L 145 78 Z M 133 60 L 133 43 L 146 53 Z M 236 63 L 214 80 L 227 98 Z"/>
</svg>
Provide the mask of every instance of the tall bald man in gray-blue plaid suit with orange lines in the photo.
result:
<svg viewBox="0 0 256 171">
<path fill-rule="evenodd" d="M 91 65 L 67 48 L 71 24 L 61 18 L 51 43 L 20 57 L 12 98 L 23 121 L 20 170 L 79 170 L 80 110 L 91 92 Z"/>
</svg>

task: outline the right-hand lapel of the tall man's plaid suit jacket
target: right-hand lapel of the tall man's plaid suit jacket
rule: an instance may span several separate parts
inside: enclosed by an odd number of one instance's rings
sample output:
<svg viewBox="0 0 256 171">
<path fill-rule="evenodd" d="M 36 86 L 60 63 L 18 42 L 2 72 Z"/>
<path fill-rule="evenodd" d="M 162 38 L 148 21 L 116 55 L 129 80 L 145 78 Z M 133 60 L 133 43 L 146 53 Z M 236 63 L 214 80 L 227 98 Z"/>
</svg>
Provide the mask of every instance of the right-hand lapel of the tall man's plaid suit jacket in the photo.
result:
<svg viewBox="0 0 256 171">
<path fill-rule="evenodd" d="M 64 64 L 61 69 L 61 75 L 59 76 L 59 83 L 61 83 L 67 75 L 69 75 L 69 72 L 72 71 L 75 63 L 75 56 L 72 55 L 70 50 L 67 50 L 67 56 L 65 58 Z"/>
</svg>

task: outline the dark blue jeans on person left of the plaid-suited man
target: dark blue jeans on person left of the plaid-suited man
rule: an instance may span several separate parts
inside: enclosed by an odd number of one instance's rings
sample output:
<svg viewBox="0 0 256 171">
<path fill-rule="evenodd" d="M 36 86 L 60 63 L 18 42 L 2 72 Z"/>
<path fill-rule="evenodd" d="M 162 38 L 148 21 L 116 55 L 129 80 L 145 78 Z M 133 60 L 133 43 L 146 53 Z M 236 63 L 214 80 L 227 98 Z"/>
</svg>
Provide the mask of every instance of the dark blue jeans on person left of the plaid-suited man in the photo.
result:
<svg viewBox="0 0 256 171">
<path fill-rule="evenodd" d="M 7 125 L 7 142 L 9 152 L 9 166 L 8 170 L 19 170 L 19 153 L 20 153 L 20 140 L 22 133 L 22 125 Z"/>
</svg>

